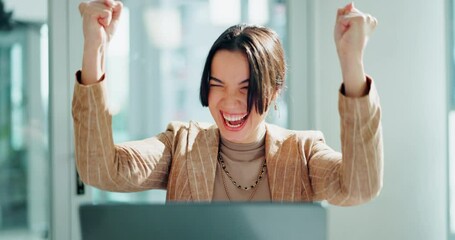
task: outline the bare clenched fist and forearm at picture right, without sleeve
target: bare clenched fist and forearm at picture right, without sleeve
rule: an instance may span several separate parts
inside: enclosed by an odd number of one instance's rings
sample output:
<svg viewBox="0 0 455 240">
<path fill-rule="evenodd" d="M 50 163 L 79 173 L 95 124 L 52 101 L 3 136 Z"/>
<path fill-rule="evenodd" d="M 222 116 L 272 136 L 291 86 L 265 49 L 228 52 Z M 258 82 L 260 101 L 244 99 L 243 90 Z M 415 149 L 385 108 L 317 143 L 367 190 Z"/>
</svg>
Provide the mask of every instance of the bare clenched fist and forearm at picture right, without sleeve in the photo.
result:
<svg viewBox="0 0 455 240">
<path fill-rule="evenodd" d="M 375 17 L 359 11 L 353 3 L 338 9 L 334 38 L 348 96 L 365 93 L 363 52 L 376 25 Z"/>
</svg>

